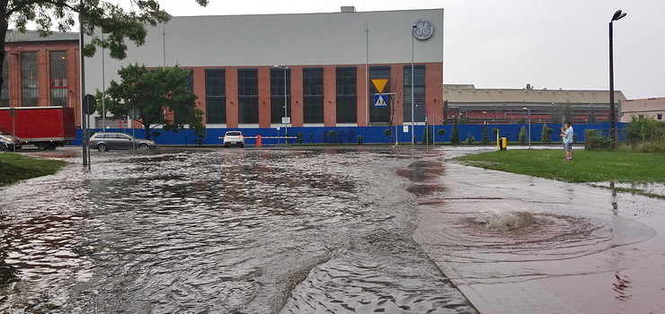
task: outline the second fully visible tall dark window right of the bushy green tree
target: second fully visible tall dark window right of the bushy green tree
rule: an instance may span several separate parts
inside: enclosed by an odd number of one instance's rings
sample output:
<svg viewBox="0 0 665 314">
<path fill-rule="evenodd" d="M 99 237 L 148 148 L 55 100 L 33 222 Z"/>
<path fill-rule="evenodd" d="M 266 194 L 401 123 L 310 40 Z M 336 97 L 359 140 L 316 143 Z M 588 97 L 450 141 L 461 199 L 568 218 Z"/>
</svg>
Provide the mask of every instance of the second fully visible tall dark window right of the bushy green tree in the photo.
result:
<svg viewBox="0 0 665 314">
<path fill-rule="evenodd" d="M 238 69 L 238 123 L 259 123 L 259 70 Z"/>
</svg>

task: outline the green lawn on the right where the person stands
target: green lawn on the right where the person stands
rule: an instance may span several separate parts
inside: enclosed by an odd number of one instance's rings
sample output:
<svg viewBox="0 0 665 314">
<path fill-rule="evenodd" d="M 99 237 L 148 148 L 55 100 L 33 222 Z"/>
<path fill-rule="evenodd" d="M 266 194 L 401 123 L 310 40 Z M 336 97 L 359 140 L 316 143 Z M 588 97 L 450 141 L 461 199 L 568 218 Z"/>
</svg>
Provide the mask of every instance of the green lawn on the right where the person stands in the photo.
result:
<svg viewBox="0 0 665 314">
<path fill-rule="evenodd" d="M 665 182 L 665 154 L 572 151 L 564 161 L 561 150 L 508 150 L 457 157 L 465 165 L 527 174 L 566 182 Z"/>
</svg>

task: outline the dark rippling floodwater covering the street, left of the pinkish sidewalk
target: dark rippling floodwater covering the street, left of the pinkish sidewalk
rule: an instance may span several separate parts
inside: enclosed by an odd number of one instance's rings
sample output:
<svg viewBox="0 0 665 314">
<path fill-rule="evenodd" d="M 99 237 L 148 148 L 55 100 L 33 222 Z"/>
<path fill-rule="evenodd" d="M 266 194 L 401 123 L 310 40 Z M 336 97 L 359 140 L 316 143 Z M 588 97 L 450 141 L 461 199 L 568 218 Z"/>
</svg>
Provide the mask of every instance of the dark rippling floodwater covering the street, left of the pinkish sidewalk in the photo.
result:
<svg viewBox="0 0 665 314">
<path fill-rule="evenodd" d="M 412 240 L 441 152 L 93 152 L 82 168 L 0 190 L 0 312 L 475 312 Z"/>
</svg>

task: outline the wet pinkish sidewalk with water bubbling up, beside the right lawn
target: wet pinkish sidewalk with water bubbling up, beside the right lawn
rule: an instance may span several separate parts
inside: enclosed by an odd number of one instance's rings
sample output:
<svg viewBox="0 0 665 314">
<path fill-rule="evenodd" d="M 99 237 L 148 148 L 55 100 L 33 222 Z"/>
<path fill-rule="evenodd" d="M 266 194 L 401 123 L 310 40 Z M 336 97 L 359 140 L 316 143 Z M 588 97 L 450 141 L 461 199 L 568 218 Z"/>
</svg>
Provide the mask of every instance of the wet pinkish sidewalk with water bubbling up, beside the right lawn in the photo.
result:
<svg viewBox="0 0 665 314">
<path fill-rule="evenodd" d="M 413 239 L 481 313 L 665 312 L 665 201 L 445 167 Z"/>
</svg>

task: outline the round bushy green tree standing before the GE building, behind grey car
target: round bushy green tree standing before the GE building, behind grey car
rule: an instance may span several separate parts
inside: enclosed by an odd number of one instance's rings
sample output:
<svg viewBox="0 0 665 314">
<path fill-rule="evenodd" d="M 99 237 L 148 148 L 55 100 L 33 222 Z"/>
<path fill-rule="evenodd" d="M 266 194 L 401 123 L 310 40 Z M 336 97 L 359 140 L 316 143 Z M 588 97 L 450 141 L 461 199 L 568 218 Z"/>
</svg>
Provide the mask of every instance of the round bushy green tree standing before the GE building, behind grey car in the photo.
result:
<svg viewBox="0 0 665 314">
<path fill-rule="evenodd" d="M 128 65 L 118 70 L 121 82 L 111 81 L 106 90 L 106 109 L 119 118 L 130 109 L 138 110 L 137 121 L 146 129 L 163 126 L 177 131 L 189 125 L 197 137 L 205 136 L 203 112 L 195 107 L 196 95 L 189 90 L 190 73 L 175 67 L 148 70 L 145 65 Z M 102 92 L 97 91 L 97 108 L 101 107 Z M 168 118 L 164 111 L 173 112 Z"/>
</svg>

